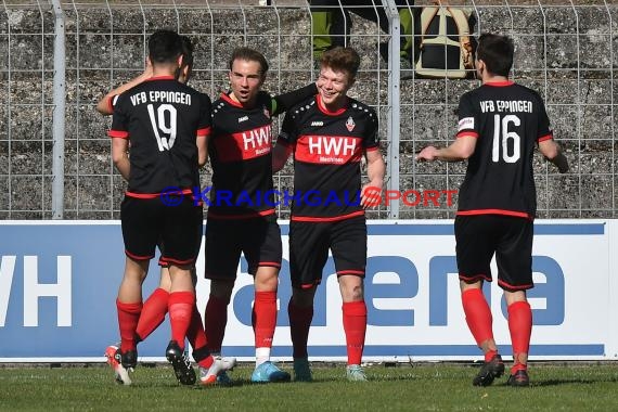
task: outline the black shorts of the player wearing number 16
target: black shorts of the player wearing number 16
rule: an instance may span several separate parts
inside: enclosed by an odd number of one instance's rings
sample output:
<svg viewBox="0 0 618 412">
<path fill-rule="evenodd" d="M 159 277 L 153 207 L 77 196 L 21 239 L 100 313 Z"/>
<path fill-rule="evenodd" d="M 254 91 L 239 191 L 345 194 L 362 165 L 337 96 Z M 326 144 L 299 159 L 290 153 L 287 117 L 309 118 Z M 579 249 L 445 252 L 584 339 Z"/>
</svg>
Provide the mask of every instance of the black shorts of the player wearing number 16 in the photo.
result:
<svg viewBox="0 0 618 412">
<path fill-rule="evenodd" d="M 533 223 L 528 219 L 503 215 L 458 216 L 460 280 L 491 282 L 489 265 L 495 254 L 500 287 L 508 292 L 532 288 L 532 235 Z"/>
</svg>

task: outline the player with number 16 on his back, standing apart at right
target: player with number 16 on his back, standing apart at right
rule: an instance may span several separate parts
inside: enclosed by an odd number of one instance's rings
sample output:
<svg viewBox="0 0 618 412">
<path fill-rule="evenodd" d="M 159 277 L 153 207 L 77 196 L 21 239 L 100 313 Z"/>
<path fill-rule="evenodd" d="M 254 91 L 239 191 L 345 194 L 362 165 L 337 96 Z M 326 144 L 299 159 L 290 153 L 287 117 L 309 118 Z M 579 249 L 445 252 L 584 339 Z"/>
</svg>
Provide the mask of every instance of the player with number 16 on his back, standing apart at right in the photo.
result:
<svg viewBox="0 0 618 412">
<path fill-rule="evenodd" d="M 513 54 L 510 38 L 480 36 L 475 65 L 482 85 L 460 100 L 456 140 L 443 149 L 427 146 L 416 156 L 429 162 L 468 160 L 454 229 L 463 309 L 485 353 L 485 363 L 473 381 L 475 386 L 491 385 L 504 373 L 493 339 L 491 311 L 481 291 L 485 281 L 492 281 L 489 265 L 494 254 L 513 345 L 508 385 L 529 385 L 532 312 L 526 291 L 533 287 L 535 146 L 561 173 L 568 170 L 568 162 L 553 140 L 542 99 L 508 80 Z"/>
</svg>

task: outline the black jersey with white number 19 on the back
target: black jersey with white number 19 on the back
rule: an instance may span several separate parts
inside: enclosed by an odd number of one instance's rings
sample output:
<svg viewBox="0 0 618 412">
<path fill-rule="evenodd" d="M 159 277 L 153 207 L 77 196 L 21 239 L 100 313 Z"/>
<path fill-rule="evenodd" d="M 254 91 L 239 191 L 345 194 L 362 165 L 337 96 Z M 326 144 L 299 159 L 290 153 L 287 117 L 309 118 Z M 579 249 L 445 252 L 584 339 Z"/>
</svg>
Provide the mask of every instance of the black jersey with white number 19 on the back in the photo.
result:
<svg viewBox="0 0 618 412">
<path fill-rule="evenodd" d="M 153 77 L 114 102 L 111 138 L 129 139 L 127 195 L 199 185 L 195 138 L 210 131 L 210 99 L 171 76 Z"/>
</svg>

